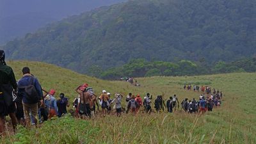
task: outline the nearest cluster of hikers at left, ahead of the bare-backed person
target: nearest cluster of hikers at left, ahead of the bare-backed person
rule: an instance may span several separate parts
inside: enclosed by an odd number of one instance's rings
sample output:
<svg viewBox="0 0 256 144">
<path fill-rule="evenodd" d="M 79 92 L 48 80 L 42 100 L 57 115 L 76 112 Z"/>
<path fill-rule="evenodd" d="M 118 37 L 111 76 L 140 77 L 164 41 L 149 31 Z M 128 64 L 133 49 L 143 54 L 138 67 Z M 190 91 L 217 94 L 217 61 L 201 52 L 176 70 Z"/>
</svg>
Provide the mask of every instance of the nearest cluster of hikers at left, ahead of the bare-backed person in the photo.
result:
<svg viewBox="0 0 256 144">
<path fill-rule="evenodd" d="M 68 99 L 60 93 L 60 99 L 54 98 L 55 90 L 49 93 L 41 85 L 28 67 L 22 68 L 23 76 L 17 82 L 11 67 L 6 65 L 4 51 L 0 50 L 0 136 L 5 133 L 5 117 L 10 116 L 13 131 L 17 124 L 26 127 L 37 125 L 52 116 L 67 113 Z M 46 94 L 43 95 L 44 91 Z"/>
</svg>

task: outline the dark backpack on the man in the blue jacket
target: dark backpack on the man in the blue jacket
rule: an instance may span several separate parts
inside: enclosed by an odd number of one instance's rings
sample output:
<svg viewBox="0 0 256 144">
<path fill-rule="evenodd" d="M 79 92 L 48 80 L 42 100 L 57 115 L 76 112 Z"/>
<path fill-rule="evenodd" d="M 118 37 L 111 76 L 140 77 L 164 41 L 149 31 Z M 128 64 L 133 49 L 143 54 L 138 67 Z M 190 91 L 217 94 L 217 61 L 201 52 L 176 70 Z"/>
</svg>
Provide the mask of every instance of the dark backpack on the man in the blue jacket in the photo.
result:
<svg viewBox="0 0 256 144">
<path fill-rule="evenodd" d="M 31 104 L 35 104 L 40 100 L 39 95 L 34 86 L 35 83 L 33 81 L 34 81 L 34 78 L 31 77 L 30 84 L 28 86 L 19 86 L 19 88 L 24 88 L 26 93 L 25 97 L 28 100 L 28 102 Z"/>
</svg>

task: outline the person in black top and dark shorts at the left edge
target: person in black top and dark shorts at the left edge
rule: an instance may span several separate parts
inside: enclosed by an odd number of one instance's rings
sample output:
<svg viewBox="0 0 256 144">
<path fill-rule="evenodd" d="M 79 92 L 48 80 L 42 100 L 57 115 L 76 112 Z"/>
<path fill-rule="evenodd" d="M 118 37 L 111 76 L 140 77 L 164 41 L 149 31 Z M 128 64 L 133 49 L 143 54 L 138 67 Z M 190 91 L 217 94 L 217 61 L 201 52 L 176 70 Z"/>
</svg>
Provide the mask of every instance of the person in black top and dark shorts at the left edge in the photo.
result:
<svg viewBox="0 0 256 144">
<path fill-rule="evenodd" d="M 17 91 L 17 83 L 12 68 L 6 65 L 4 59 L 4 51 L 0 50 L 0 136 L 4 134 L 4 116 L 9 115 L 12 119 L 13 131 L 17 125 L 12 98 L 13 90 Z"/>
</svg>

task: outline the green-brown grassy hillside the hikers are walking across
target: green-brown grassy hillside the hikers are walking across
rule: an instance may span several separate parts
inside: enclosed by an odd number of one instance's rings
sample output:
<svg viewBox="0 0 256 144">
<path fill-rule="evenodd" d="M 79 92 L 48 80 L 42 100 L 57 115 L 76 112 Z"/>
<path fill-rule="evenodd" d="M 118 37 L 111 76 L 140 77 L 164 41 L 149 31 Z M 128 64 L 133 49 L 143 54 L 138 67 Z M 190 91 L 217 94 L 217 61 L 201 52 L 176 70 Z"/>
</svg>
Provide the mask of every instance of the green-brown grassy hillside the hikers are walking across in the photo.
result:
<svg viewBox="0 0 256 144">
<path fill-rule="evenodd" d="M 256 143 L 256 73 L 138 78 L 141 86 L 135 87 L 121 81 L 102 81 L 45 63 L 15 61 L 8 64 L 17 78 L 21 76 L 22 67 L 31 67 L 31 73 L 45 89 L 55 88 L 58 93 L 67 93 L 70 99 L 76 97 L 74 88 L 84 82 L 92 86 L 96 94 L 102 89 L 125 95 L 149 92 L 154 97 L 164 94 L 167 99 L 176 93 L 181 101 L 185 97 L 198 99 L 200 93 L 182 88 L 184 83 L 195 83 L 219 88 L 225 95 L 221 108 L 201 116 L 181 111 L 128 114 L 120 118 L 99 116 L 88 121 L 67 116 L 45 122 L 31 131 L 20 127 L 15 136 L 1 139 L 0 143 Z"/>
</svg>

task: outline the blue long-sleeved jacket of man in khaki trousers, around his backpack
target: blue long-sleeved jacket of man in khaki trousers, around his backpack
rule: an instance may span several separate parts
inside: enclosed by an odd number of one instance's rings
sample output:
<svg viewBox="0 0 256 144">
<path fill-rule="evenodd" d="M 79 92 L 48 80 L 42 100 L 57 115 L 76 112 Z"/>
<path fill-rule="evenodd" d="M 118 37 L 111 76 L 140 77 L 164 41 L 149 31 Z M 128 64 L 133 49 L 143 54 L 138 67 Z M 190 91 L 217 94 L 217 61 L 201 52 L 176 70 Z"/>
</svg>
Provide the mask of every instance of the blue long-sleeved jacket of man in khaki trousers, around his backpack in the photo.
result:
<svg viewBox="0 0 256 144">
<path fill-rule="evenodd" d="M 19 82 L 18 82 L 18 97 L 22 97 L 22 102 L 24 102 L 25 104 L 30 104 L 30 102 L 28 101 L 28 99 L 26 99 L 26 92 L 24 90 L 24 88 L 19 88 L 19 86 L 28 86 L 31 84 L 31 79 L 33 78 L 33 84 L 36 88 L 36 92 L 38 93 L 40 99 L 43 99 L 43 92 L 42 92 L 42 88 L 40 83 L 38 82 L 38 79 L 36 79 L 36 77 L 33 76 L 23 76 Z"/>
</svg>

